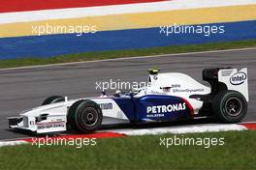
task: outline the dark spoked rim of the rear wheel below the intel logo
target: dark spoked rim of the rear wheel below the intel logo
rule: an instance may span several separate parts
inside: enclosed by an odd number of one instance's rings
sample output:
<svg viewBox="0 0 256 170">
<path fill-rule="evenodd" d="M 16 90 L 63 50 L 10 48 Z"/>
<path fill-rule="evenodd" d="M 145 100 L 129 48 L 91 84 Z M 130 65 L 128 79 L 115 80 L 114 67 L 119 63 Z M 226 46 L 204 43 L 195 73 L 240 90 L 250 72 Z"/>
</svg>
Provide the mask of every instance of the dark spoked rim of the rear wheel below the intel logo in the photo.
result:
<svg viewBox="0 0 256 170">
<path fill-rule="evenodd" d="M 240 115 L 242 103 L 238 98 L 230 98 L 226 101 L 225 110 L 229 116 L 236 117 Z"/>
</svg>

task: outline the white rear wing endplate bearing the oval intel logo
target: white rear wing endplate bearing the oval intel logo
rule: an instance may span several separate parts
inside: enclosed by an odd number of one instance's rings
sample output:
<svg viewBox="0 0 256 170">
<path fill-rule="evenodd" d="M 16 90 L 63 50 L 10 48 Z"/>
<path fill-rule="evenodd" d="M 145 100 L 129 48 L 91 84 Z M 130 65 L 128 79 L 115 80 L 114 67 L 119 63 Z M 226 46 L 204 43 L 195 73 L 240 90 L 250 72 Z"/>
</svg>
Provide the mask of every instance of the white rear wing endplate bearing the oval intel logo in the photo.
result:
<svg viewBox="0 0 256 170">
<path fill-rule="evenodd" d="M 228 90 L 240 92 L 249 101 L 247 68 L 221 69 L 218 71 L 218 82 L 226 84 Z"/>
</svg>

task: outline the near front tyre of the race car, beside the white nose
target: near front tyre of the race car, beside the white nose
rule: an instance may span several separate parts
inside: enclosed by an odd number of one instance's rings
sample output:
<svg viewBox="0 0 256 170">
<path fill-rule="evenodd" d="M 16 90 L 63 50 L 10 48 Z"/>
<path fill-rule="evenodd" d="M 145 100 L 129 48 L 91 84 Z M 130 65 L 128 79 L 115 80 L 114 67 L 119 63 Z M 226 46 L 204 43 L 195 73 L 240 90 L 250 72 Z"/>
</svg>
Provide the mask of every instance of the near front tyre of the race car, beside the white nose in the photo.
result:
<svg viewBox="0 0 256 170">
<path fill-rule="evenodd" d="M 68 111 L 68 126 L 82 133 L 92 133 L 102 124 L 102 111 L 100 106 L 88 99 L 75 102 Z"/>
</svg>

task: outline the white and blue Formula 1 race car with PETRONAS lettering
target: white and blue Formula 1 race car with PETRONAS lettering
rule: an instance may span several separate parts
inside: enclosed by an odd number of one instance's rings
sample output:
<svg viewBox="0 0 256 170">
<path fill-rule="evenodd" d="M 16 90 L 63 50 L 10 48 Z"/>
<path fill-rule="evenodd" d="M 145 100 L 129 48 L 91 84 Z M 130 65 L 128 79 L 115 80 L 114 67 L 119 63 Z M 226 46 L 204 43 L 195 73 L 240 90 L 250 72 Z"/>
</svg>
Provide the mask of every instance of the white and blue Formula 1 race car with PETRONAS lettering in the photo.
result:
<svg viewBox="0 0 256 170">
<path fill-rule="evenodd" d="M 129 93 L 105 93 L 97 98 L 68 100 L 52 96 L 41 106 L 9 119 L 10 128 L 36 133 L 69 128 L 91 133 L 103 120 L 112 118 L 130 124 L 215 117 L 237 123 L 245 116 L 248 102 L 247 69 L 214 68 L 203 71 L 205 86 L 178 72 L 149 70 L 148 83 Z"/>
</svg>

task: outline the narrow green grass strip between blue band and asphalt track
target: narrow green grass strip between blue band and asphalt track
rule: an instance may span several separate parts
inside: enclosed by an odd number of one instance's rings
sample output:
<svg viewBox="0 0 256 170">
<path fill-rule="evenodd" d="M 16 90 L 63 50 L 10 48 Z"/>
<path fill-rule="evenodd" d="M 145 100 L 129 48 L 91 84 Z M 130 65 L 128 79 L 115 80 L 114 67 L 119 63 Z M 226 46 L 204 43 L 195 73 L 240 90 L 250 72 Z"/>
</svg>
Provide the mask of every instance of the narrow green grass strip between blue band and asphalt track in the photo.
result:
<svg viewBox="0 0 256 170">
<path fill-rule="evenodd" d="M 231 49 L 231 48 L 242 48 L 242 47 L 252 47 L 252 46 L 256 46 L 256 40 L 240 41 L 240 42 L 218 42 L 218 43 L 204 43 L 204 44 L 193 44 L 193 45 L 165 46 L 165 47 L 144 48 L 144 49 L 135 49 L 135 50 L 89 52 L 89 53 L 61 55 L 61 56 L 50 57 L 45 59 L 38 58 L 38 57 L 19 58 L 19 59 L 0 60 L 0 68 L 2 69 L 16 68 L 16 67 L 24 67 L 24 66 L 48 65 L 48 64 L 55 64 L 55 63 L 80 62 L 80 61 L 157 55 L 157 54 L 172 54 L 172 53 L 191 52 L 191 51 Z"/>
</svg>

